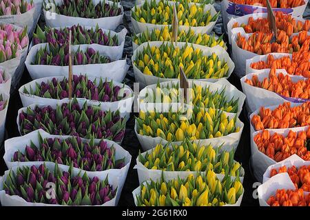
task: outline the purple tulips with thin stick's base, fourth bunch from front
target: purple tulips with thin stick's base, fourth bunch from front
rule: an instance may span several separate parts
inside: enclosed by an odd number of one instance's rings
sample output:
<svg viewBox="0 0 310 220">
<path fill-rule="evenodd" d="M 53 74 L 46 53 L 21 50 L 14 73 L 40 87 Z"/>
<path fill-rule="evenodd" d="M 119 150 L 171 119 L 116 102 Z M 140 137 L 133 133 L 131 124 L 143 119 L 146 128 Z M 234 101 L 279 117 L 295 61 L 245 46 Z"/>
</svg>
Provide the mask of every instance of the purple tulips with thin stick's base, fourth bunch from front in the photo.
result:
<svg viewBox="0 0 310 220">
<path fill-rule="evenodd" d="M 99 84 L 97 86 L 97 81 Z M 72 81 L 72 96 L 76 98 L 84 98 L 96 101 L 120 101 L 124 99 L 127 94 L 123 87 L 114 85 L 113 81 L 107 81 L 102 77 L 91 81 L 87 75 L 73 75 Z M 44 97 L 48 99 L 65 99 L 69 97 L 69 83 L 67 77 L 62 80 L 53 78 L 51 81 L 36 82 L 33 89 L 24 87 L 23 93 L 33 94 L 37 97 Z"/>
</svg>

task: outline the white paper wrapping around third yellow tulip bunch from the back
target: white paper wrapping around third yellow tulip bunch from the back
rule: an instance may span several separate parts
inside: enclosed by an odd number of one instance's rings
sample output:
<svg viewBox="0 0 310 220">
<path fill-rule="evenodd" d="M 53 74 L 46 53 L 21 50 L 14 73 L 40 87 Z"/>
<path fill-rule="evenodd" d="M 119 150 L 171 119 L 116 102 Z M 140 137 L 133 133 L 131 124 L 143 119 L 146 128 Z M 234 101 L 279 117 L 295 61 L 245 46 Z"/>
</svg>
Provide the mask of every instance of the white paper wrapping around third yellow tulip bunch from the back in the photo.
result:
<svg viewBox="0 0 310 220">
<path fill-rule="evenodd" d="M 141 89 L 145 88 L 145 86 L 156 84 L 156 83 L 158 83 L 158 81 L 160 83 L 162 83 L 165 81 L 177 80 L 177 79 L 164 79 L 164 78 L 159 78 L 159 77 L 154 77 L 154 76 L 149 76 L 147 74 L 143 74 L 143 72 L 141 72 L 141 70 L 139 70 L 134 65 L 134 60 L 136 59 L 137 53 L 143 52 L 143 48 L 145 48 L 147 46 L 147 44 L 149 44 L 150 47 L 152 47 L 152 46 L 159 47 L 163 43 L 168 43 L 169 45 L 171 44 L 171 42 L 169 42 L 169 41 L 167 41 L 167 42 L 151 41 L 151 42 L 145 42 L 145 43 L 141 44 L 141 46 L 138 46 L 138 48 L 136 50 L 134 50 L 134 54 L 132 55 L 132 66 L 134 67 L 134 78 L 136 79 L 136 82 L 140 83 L 139 86 Z M 188 45 L 188 46 L 193 45 L 194 49 L 199 48 L 203 52 L 203 55 L 205 55 L 205 56 L 210 56 L 212 53 L 215 53 L 221 61 L 227 62 L 227 65 L 229 67 L 228 76 L 224 77 L 225 79 L 228 79 L 228 77 L 230 77 L 231 72 L 233 72 L 233 70 L 235 68 L 234 62 L 230 59 L 229 54 L 221 46 L 215 46 L 213 48 L 208 48 L 208 47 L 201 46 L 198 44 L 184 43 L 184 42 L 178 42 L 175 45 L 180 47 L 180 48 L 182 48 L 185 45 Z M 195 81 L 209 81 L 209 82 L 216 82 L 218 80 L 219 79 L 195 79 Z"/>
</svg>

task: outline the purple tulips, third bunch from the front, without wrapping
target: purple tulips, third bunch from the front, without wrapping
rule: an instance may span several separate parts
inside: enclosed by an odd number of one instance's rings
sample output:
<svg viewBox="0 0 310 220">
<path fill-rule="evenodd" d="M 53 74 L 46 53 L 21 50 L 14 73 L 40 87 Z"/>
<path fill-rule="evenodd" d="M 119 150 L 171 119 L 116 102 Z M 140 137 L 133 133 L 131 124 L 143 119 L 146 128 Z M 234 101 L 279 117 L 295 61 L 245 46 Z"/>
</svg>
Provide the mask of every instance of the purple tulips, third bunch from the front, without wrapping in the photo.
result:
<svg viewBox="0 0 310 220">
<path fill-rule="evenodd" d="M 19 131 L 28 134 L 43 129 L 50 134 L 74 135 L 85 139 L 120 142 L 125 134 L 125 119 L 120 112 L 102 111 L 96 106 L 80 106 L 76 99 L 52 106 L 30 106 L 19 110 Z"/>
</svg>

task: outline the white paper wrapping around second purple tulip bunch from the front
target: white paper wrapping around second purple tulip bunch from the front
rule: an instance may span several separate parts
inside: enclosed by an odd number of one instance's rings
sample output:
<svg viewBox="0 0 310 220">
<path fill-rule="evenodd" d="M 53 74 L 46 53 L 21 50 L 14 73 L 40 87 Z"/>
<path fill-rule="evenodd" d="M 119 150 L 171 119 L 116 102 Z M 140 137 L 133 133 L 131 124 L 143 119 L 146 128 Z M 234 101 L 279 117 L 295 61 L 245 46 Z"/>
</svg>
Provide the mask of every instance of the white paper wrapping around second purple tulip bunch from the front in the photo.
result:
<svg viewBox="0 0 310 220">
<path fill-rule="evenodd" d="M 29 161 L 29 162 L 12 162 L 12 158 L 14 156 L 14 152 L 20 150 L 21 152 L 25 152 L 25 147 L 26 146 L 30 146 L 30 143 L 32 141 L 32 143 L 34 143 L 35 146 L 39 147 L 39 134 L 41 134 L 41 137 L 43 139 L 45 138 L 58 138 L 61 140 L 65 140 L 70 138 L 71 136 L 66 136 L 66 135 L 51 135 L 48 134 L 48 132 L 45 132 L 43 130 L 37 130 L 37 131 L 33 131 L 30 132 L 29 134 L 25 134 L 23 137 L 14 137 L 12 139 L 8 139 L 6 140 L 5 144 L 4 144 L 4 149 L 5 149 L 5 154 L 3 156 L 4 161 L 6 162 L 6 166 L 8 167 L 8 169 L 11 169 L 15 166 L 39 166 L 42 163 L 45 164 L 51 164 L 51 166 L 54 166 L 55 163 L 52 162 L 48 162 L 48 161 Z M 119 176 L 118 179 L 118 194 L 116 194 L 116 203 L 118 202 L 118 199 L 121 197 L 121 191 L 123 189 L 126 177 L 127 177 L 127 172 L 130 168 L 130 162 L 132 161 L 132 155 L 130 155 L 129 152 L 127 152 L 127 150 L 125 150 L 124 148 L 122 148 L 121 146 L 119 146 L 117 143 L 115 143 L 114 141 L 110 141 L 110 140 L 106 140 L 103 139 L 105 142 L 107 142 L 107 147 L 111 148 L 112 146 L 115 148 L 115 159 L 123 159 L 125 158 L 125 166 L 121 169 L 110 169 L 110 170 L 103 170 L 103 171 L 87 171 L 87 173 L 92 173 L 92 174 L 105 174 L 108 175 L 110 177 L 110 175 L 112 176 Z M 94 143 L 99 143 L 101 140 L 96 139 L 96 141 L 94 141 Z M 83 142 L 89 142 L 87 140 L 84 139 Z M 63 168 L 65 170 L 69 169 L 69 166 L 63 165 L 63 164 L 59 164 L 58 165 L 59 168 Z M 79 172 L 79 168 L 73 168 L 73 170 L 75 172 Z M 83 170 L 85 171 L 85 170 Z"/>
</svg>

